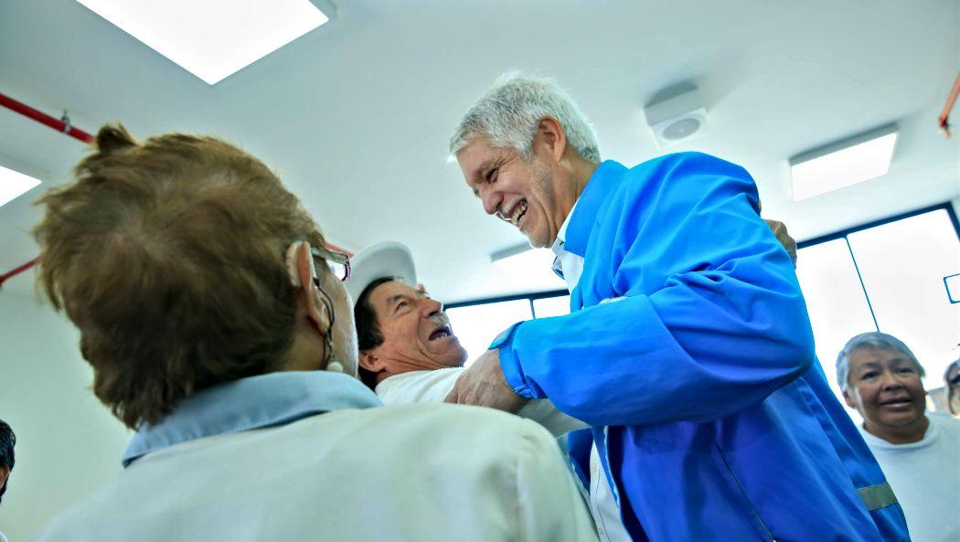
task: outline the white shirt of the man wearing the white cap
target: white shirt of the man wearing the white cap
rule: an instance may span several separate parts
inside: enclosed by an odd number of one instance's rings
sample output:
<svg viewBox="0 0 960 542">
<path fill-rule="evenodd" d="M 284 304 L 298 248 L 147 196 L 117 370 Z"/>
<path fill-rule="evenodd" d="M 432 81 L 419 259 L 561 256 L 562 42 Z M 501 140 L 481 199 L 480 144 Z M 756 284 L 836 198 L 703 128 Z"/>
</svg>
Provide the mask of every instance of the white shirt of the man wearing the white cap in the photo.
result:
<svg viewBox="0 0 960 542">
<path fill-rule="evenodd" d="M 453 389 L 465 370 L 467 369 L 464 367 L 450 367 L 395 374 L 376 385 L 376 394 L 383 404 L 388 406 L 443 403 L 446 394 Z M 553 436 L 589 427 L 586 423 L 558 411 L 547 399 L 530 401 L 517 411 L 516 415 L 539 423 Z"/>
</svg>

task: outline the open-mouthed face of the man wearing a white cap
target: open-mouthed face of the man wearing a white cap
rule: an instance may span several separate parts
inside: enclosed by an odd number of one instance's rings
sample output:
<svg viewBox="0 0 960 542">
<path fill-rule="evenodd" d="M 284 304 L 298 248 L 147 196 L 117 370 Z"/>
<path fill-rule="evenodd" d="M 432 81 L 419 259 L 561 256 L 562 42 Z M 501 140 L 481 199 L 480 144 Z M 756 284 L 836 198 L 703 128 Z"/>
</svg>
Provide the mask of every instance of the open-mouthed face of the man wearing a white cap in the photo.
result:
<svg viewBox="0 0 960 542">
<path fill-rule="evenodd" d="M 383 342 L 360 352 L 365 369 L 389 376 L 459 367 L 467 361 L 467 350 L 453 335 L 439 301 L 396 280 L 374 288 L 369 299 Z"/>
</svg>

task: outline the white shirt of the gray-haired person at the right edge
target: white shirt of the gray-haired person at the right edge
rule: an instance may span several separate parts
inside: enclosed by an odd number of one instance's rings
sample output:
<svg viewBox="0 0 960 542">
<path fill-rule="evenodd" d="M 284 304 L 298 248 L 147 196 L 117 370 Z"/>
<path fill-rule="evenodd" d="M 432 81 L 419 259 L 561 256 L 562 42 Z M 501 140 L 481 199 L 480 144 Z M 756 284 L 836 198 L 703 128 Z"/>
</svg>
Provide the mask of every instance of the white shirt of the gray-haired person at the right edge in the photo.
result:
<svg viewBox="0 0 960 542">
<path fill-rule="evenodd" d="M 926 413 L 924 438 L 892 444 L 860 433 L 897 495 L 913 542 L 960 540 L 960 420 Z"/>
</svg>

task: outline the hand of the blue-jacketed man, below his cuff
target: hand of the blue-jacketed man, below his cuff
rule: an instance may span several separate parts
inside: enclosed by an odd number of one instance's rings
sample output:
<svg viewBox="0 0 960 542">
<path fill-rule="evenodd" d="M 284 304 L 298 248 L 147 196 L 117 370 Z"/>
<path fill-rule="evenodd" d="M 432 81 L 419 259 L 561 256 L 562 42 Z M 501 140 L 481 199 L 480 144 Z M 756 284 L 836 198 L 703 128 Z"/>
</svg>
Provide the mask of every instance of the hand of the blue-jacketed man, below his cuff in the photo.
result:
<svg viewBox="0 0 960 542">
<path fill-rule="evenodd" d="M 447 403 L 476 405 L 498 411 L 516 412 L 527 401 L 507 384 L 500 368 L 500 350 L 487 350 L 457 379 L 446 395 Z"/>
</svg>

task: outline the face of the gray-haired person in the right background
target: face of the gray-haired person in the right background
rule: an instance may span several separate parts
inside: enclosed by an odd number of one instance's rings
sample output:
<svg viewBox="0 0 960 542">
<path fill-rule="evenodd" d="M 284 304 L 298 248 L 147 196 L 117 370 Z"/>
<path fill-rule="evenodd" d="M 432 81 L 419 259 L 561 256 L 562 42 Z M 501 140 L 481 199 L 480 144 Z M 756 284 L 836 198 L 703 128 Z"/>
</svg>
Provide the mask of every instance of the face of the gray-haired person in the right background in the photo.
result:
<svg viewBox="0 0 960 542">
<path fill-rule="evenodd" d="M 844 398 L 868 429 L 889 433 L 924 422 L 926 391 L 910 358 L 893 348 L 861 347 L 853 350 L 849 364 Z"/>
</svg>

